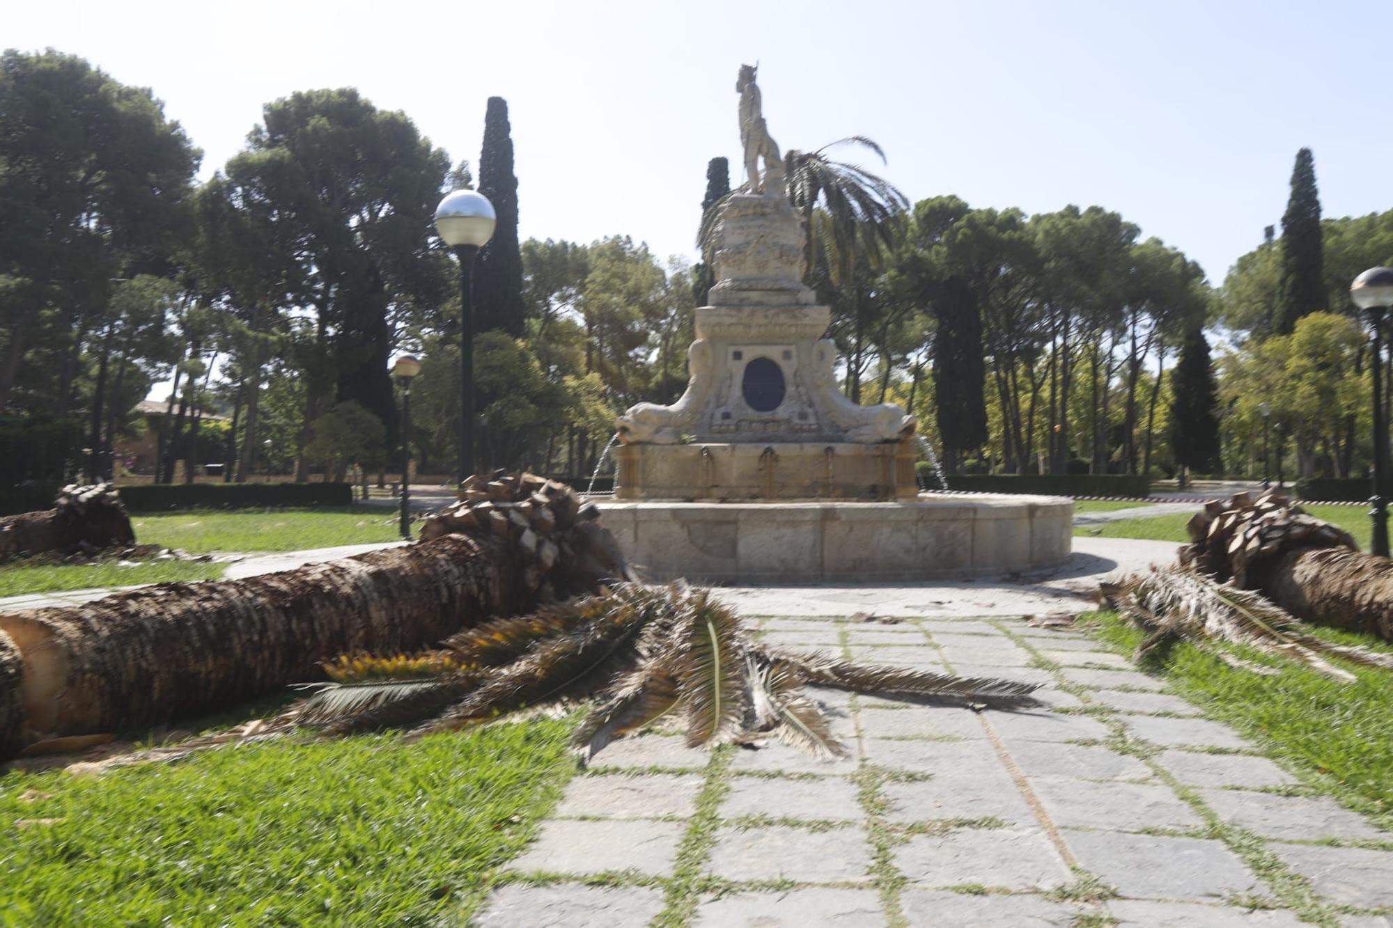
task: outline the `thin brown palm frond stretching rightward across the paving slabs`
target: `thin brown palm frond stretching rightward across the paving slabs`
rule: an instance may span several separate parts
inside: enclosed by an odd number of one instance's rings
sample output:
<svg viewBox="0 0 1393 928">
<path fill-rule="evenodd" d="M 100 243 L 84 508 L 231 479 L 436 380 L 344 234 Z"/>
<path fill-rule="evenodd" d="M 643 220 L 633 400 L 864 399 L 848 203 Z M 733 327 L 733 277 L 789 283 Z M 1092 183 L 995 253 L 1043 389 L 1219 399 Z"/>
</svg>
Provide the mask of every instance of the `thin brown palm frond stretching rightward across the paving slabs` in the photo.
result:
<svg viewBox="0 0 1393 928">
<path fill-rule="evenodd" d="M 834 690 L 854 690 L 898 698 L 949 699 L 985 702 L 989 705 L 1035 705 L 1034 683 L 1002 680 L 999 677 L 957 677 L 929 670 L 893 667 L 873 663 L 851 663 L 826 655 L 794 655 L 766 651 L 773 663 L 787 663 L 802 673 L 809 686 Z"/>
</svg>

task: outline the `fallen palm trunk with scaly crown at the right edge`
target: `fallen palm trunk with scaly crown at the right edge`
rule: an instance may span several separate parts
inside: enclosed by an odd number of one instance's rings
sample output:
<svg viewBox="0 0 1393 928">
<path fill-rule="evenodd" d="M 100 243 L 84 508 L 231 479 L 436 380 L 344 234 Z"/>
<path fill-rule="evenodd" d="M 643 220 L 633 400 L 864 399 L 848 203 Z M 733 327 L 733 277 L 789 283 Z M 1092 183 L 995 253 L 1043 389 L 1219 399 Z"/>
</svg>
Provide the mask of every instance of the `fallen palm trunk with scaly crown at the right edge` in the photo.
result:
<svg viewBox="0 0 1393 928">
<path fill-rule="evenodd" d="M 1255 589 L 1297 619 L 1393 641 L 1393 562 L 1280 492 L 1211 502 L 1187 525 L 1180 563 Z"/>
</svg>

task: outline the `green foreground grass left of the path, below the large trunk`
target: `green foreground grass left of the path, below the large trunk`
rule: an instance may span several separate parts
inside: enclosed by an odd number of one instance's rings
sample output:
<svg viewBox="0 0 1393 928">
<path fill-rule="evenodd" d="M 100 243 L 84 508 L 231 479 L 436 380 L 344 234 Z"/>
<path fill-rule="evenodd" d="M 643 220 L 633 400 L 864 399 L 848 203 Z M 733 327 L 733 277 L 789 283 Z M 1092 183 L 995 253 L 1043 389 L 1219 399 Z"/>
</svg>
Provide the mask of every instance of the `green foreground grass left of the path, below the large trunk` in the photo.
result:
<svg viewBox="0 0 1393 928">
<path fill-rule="evenodd" d="M 464 924 L 575 771 L 570 730 L 536 720 L 3 775 L 0 922 Z"/>
</svg>

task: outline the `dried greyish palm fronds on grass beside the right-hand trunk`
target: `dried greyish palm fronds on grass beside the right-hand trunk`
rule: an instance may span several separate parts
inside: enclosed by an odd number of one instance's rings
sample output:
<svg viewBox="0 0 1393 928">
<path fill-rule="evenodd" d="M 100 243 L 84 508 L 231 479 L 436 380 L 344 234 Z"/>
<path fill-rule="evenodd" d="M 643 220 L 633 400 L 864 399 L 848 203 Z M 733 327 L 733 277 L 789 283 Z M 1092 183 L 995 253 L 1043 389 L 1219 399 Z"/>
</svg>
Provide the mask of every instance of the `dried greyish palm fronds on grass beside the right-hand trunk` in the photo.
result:
<svg viewBox="0 0 1393 928">
<path fill-rule="evenodd" d="M 1248 645 L 1290 658 L 1343 683 L 1357 677 L 1330 665 L 1326 656 L 1393 669 L 1393 655 L 1309 635 L 1261 594 L 1185 567 L 1152 567 L 1149 573 L 1124 581 L 1110 602 L 1152 637 L 1167 633 L 1201 645 L 1211 640 Z"/>
</svg>

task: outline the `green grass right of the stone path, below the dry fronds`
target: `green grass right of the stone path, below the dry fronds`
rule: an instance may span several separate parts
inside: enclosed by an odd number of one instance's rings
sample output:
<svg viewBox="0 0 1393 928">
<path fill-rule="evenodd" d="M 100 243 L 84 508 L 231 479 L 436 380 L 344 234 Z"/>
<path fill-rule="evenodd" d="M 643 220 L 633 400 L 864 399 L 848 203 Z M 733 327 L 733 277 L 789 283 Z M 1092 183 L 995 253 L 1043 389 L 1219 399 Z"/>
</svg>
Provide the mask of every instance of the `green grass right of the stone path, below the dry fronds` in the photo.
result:
<svg viewBox="0 0 1393 928">
<path fill-rule="evenodd" d="M 1094 613 L 1087 621 L 1095 637 L 1121 654 L 1130 655 L 1142 640 L 1142 633 L 1116 613 Z M 1393 651 L 1368 635 L 1307 628 L 1330 641 Z M 1382 828 L 1393 828 L 1393 673 L 1332 659 L 1358 676 L 1357 683 L 1341 684 L 1251 648 L 1236 652 L 1280 666 L 1282 673 L 1269 677 L 1240 670 L 1191 644 L 1177 645 L 1152 669 L 1212 718 L 1286 761 L 1308 784 L 1375 817 Z"/>
</svg>

